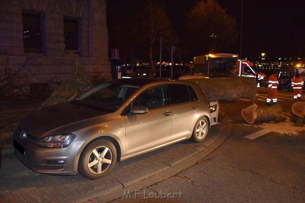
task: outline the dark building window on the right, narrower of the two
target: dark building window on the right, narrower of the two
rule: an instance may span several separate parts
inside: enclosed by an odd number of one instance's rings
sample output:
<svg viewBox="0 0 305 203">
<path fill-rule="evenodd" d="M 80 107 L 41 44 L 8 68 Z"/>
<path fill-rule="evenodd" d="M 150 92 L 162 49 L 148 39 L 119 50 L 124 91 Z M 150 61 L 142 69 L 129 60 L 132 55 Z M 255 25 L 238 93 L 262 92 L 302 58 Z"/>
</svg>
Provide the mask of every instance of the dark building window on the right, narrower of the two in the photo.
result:
<svg viewBox="0 0 305 203">
<path fill-rule="evenodd" d="M 63 35 L 66 52 L 78 49 L 77 19 L 63 19 Z"/>
</svg>

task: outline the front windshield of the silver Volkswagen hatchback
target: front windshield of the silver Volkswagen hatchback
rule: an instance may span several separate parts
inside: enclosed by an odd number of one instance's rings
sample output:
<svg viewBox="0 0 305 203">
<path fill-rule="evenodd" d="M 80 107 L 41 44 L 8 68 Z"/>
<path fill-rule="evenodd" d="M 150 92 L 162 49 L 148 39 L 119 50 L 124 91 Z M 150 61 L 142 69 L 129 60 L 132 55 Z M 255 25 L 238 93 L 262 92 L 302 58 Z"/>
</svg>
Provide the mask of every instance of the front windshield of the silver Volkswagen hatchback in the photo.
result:
<svg viewBox="0 0 305 203">
<path fill-rule="evenodd" d="M 94 110 L 114 112 L 139 86 L 122 82 L 105 82 L 76 97 L 70 103 Z"/>
</svg>

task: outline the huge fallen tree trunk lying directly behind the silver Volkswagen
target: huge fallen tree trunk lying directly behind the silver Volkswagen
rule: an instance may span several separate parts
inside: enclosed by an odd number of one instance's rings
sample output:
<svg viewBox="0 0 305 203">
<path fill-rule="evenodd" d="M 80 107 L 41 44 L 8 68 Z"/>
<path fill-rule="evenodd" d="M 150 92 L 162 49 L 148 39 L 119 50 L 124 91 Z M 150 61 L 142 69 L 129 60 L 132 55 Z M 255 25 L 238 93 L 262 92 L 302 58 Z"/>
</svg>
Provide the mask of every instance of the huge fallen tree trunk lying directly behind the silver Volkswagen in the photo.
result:
<svg viewBox="0 0 305 203">
<path fill-rule="evenodd" d="M 255 78 L 194 78 L 187 80 L 198 83 L 209 101 L 230 102 L 240 98 L 255 101 L 259 96 Z"/>
</svg>

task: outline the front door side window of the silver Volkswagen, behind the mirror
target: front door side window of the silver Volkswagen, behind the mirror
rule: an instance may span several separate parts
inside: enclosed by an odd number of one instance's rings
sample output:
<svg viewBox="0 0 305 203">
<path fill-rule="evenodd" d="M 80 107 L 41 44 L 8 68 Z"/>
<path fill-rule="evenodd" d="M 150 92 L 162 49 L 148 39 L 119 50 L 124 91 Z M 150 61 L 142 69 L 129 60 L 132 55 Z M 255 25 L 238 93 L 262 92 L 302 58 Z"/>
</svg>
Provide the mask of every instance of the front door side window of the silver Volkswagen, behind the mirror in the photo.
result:
<svg viewBox="0 0 305 203">
<path fill-rule="evenodd" d="M 155 109 L 167 105 L 165 86 L 154 86 L 145 89 L 133 102 L 133 106 L 141 105 L 149 109 Z"/>
</svg>

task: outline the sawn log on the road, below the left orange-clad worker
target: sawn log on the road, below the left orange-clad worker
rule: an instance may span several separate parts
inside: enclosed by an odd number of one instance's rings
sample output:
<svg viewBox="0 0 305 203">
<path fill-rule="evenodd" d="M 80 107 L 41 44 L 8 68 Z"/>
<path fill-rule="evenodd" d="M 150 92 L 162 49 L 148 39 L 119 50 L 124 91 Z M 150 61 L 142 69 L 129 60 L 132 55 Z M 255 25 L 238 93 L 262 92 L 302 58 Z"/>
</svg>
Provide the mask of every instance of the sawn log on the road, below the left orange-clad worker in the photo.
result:
<svg viewBox="0 0 305 203">
<path fill-rule="evenodd" d="M 279 120 L 281 115 L 282 106 L 278 103 L 268 107 L 257 107 L 257 104 L 253 104 L 242 109 L 242 117 L 249 124 Z"/>
</svg>

